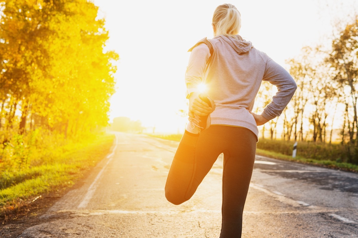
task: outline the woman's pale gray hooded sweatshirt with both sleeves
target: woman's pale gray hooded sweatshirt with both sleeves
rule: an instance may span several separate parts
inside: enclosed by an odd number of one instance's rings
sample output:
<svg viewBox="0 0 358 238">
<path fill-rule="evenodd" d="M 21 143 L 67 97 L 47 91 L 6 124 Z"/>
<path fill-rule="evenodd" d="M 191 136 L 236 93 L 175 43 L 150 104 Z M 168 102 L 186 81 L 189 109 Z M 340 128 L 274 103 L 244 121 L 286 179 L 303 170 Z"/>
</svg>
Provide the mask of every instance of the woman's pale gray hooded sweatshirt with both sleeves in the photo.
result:
<svg viewBox="0 0 358 238">
<path fill-rule="evenodd" d="M 250 111 L 262 80 L 277 87 L 262 116 L 271 120 L 280 116 L 294 95 L 297 85 L 291 75 L 265 53 L 255 49 L 241 36 L 216 36 L 209 39 L 213 55 L 205 44 L 194 47 L 185 75 L 188 92 L 205 82 L 207 94 L 215 102 L 211 125 L 246 127 L 258 138 L 258 129 Z M 207 64 L 207 60 L 210 61 Z"/>
</svg>

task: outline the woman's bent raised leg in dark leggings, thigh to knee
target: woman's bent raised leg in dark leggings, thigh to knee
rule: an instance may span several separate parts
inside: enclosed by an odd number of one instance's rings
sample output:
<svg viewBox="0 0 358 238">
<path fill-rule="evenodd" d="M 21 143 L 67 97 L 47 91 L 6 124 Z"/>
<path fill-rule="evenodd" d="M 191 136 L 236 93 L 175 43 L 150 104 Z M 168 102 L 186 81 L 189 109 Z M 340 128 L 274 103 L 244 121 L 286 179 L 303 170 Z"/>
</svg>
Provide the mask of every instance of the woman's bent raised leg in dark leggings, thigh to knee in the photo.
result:
<svg viewBox="0 0 358 238">
<path fill-rule="evenodd" d="M 200 135 L 185 132 L 171 163 L 165 184 L 165 197 L 178 205 L 190 199 L 222 153 L 217 147 L 217 130 L 212 127 Z"/>
</svg>

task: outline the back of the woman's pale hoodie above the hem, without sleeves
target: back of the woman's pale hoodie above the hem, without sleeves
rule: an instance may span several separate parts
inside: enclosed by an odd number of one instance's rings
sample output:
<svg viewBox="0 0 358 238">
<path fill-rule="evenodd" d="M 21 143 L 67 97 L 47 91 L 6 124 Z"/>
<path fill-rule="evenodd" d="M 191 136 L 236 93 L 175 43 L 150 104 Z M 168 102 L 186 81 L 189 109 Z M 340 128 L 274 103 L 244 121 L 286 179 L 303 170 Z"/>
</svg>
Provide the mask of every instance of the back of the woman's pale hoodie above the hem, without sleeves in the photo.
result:
<svg viewBox="0 0 358 238">
<path fill-rule="evenodd" d="M 241 37 L 240 37 L 241 38 Z M 210 40 L 214 48 L 205 85 L 216 105 L 249 110 L 265 72 L 265 62 L 250 41 L 218 36 Z"/>
</svg>

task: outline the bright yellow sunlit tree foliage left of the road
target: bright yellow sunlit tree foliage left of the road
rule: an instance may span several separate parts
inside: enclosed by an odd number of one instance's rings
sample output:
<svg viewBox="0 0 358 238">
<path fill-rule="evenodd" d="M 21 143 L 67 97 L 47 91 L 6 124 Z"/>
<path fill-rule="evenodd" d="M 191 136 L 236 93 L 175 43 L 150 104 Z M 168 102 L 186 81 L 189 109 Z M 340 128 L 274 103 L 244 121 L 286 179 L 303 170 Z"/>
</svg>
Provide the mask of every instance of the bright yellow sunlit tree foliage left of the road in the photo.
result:
<svg viewBox="0 0 358 238">
<path fill-rule="evenodd" d="M 108 123 L 118 55 L 98 7 L 86 0 L 6 0 L 0 27 L 1 107 L 19 132 L 40 124 L 67 135 Z M 37 123 L 35 123 L 35 121 Z"/>
</svg>

